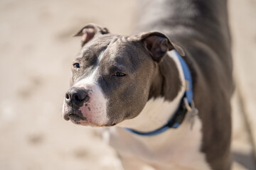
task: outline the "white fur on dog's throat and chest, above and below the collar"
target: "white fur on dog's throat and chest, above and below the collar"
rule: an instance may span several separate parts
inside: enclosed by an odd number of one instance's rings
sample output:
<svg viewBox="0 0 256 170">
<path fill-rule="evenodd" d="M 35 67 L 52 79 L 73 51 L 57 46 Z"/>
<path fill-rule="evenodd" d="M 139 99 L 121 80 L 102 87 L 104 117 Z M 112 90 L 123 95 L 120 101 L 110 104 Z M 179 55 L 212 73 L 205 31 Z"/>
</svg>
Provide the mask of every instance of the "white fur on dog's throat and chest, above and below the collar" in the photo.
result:
<svg viewBox="0 0 256 170">
<path fill-rule="evenodd" d="M 149 132 L 164 125 L 171 113 L 178 108 L 183 96 L 185 85 L 181 65 L 173 52 L 169 55 L 177 64 L 183 88 L 174 101 L 164 101 L 163 98 L 149 101 L 137 118 L 125 120 L 119 126 L 134 128 L 135 130 Z M 132 163 L 133 160 L 142 164 L 149 164 L 154 169 L 195 169 L 208 170 L 206 156 L 201 152 L 202 123 L 196 117 L 193 130 L 186 115 L 185 120 L 177 129 L 170 129 L 160 135 L 143 137 L 135 135 L 124 128 L 116 127 L 108 130 L 108 142 L 124 157 L 123 162 Z M 134 166 L 132 168 L 134 169 Z M 136 169 L 139 169 L 136 168 Z"/>
</svg>

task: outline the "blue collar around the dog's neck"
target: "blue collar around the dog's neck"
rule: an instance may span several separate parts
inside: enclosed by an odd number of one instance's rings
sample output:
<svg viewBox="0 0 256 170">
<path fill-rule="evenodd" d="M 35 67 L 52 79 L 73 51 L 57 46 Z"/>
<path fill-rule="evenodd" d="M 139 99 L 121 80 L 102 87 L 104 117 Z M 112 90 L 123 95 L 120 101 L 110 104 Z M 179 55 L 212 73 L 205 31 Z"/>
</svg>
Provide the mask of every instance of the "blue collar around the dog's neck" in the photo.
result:
<svg viewBox="0 0 256 170">
<path fill-rule="evenodd" d="M 176 113 L 171 117 L 171 119 L 166 123 L 166 125 L 163 125 L 161 128 L 158 128 L 151 132 L 139 132 L 137 130 L 132 130 L 130 128 L 124 128 L 128 130 L 129 132 L 133 132 L 137 135 L 142 136 L 153 136 L 153 135 L 159 135 L 162 132 L 165 132 L 166 130 L 169 130 L 169 128 L 178 128 L 179 125 L 183 122 L 183 119 L 185 118 L 186 113 L 190 110 L 191 107 L 193 107 L 193 85 L 192 85 L 192 77 L 191 72 L 188 69 L 188 65 L 183 60 L 181 55 L 178 55 L 178 52 L 174 50 L 174 53 L 178 56 L 179 62 L 181 62 L 181 67 L 183 69 L 183 74 L 186 80 L 186 91 L 184 93 L 183 98 L 181 99 L 180 106 Z"/>
</svg>

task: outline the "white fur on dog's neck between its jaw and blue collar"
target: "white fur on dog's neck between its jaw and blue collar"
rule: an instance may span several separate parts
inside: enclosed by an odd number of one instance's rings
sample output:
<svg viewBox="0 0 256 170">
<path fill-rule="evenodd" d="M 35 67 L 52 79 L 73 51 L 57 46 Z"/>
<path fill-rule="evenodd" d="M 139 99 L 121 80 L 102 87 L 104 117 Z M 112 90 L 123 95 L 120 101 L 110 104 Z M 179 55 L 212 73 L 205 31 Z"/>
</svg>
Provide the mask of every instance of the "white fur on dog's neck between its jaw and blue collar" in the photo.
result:
<svg viewBox="0 0 256 170">
<path fill-rule="evenodd" d="M 139 115 L 137 115 L 136 118 L 124 120 L 117 126 L 123 128 L 131 128 L 133 130 L 138 130 L 140 132 L 150 132 L 158 128 L 161 128 L 161 126 L 165 125 L 171 118 L 171 116 L 174 115 L 186 89 L 185 79 L 183 76 L 181 63 L 178 60 L 178 56 L 174 53 L 174 51 L 168 52 L 167 55 L 168 56 L 166 57 L 170 57 L 169 59 L 172 59 L 176 64 L 176 68 L 178 69 L 178 75 L 176 75 L 176 77 L 178 77 L 180 80 L 178 83 L 181 83 L 181 86 L 179 86 L 178 84 L 179 90 L 176 91 L 175 98 L 171 98 L 171 101 L 166 100 L 166 97 L 170 98 L 170 96 L 168 95 L 159 96 L 157 98 L 151 98 L 146 103 L 146 106 L 144 107 L 142 112 L 139 113 Z M 172 81 L 171 83 L 175 84 L 176 81 Z"/>
</svg>

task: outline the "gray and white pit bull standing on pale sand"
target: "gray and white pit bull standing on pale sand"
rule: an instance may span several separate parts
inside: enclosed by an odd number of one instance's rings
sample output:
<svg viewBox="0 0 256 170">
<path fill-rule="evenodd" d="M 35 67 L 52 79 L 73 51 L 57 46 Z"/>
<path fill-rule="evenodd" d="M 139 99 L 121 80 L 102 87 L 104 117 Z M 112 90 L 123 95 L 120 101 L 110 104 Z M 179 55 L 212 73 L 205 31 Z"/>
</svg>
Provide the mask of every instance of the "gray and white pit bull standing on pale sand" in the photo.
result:
<svg viewBox="0 0 256 170">
<path fill-rule="evenodd" d="M 147 1 L 140 11 L 136 35 L 114 35 L 95 24 L 76 34 L 82 50 L 73 62 L 65 120 L 114 126 L 104 137 L 124 169 L 230 169 L 233 80 L 226 1 Z M 178 128 L 159 135 L 126 130 L 161 128 L 181 106 L 187 83 L 178 55 L 193 80 L 199 111 L 193 129 L 186 114 Z"/>
</svg>

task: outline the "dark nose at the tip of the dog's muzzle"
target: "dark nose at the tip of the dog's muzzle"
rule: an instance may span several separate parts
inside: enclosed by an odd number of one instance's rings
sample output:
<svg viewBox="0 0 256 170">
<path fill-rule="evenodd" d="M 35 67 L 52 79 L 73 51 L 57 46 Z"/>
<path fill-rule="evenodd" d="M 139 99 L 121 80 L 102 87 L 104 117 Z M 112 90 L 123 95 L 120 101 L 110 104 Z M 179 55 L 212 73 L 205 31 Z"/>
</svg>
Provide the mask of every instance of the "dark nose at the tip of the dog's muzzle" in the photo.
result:
<svg viewBox="0 0 256 170">
<path fill-rule="evenodd" d="M 82 106 L 89 98 L 88 91 L 84 88 L 71 87 L 65 94 L 65 101 L 73 106 Z"/>
</svg>

